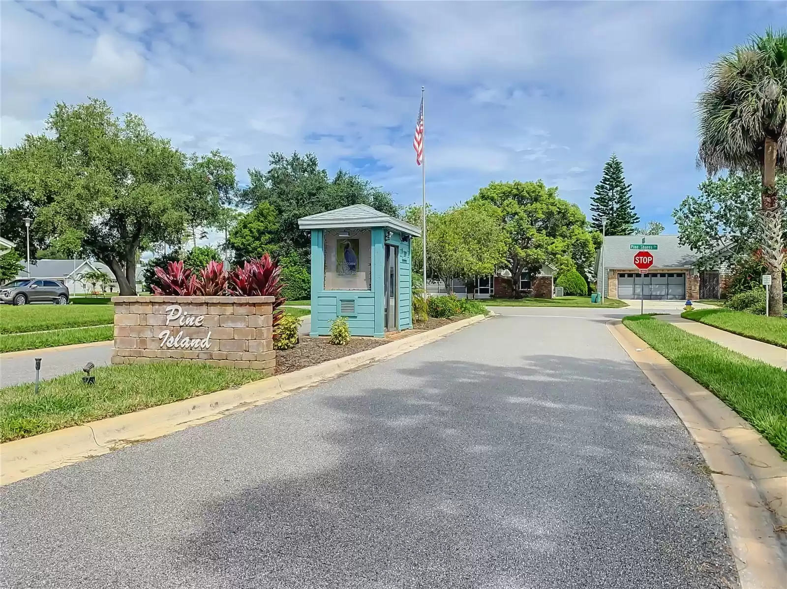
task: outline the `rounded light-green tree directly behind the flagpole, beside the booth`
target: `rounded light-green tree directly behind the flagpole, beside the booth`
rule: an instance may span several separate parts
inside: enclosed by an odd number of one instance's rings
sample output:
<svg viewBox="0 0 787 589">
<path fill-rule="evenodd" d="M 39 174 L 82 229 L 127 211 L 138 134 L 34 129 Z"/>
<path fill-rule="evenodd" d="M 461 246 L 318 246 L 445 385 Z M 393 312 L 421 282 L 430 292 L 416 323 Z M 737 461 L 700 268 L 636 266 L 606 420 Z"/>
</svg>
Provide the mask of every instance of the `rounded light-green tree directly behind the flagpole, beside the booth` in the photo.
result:
<svg viewBox="0 0 787 589">
<path fill-rule="evenodd" d="M 420 224 L 421 208 L 410 207 L 405 218 Z M 413 267 L 422 267 L 423 245 L 411 243 Z M 505 261 L 507 235 L 501 211 L 486 201 L 470 201 L 446 212 L 427 212 L 427 274 L 451 289 L 453 278 L 492 274 Z"/>
</svg>

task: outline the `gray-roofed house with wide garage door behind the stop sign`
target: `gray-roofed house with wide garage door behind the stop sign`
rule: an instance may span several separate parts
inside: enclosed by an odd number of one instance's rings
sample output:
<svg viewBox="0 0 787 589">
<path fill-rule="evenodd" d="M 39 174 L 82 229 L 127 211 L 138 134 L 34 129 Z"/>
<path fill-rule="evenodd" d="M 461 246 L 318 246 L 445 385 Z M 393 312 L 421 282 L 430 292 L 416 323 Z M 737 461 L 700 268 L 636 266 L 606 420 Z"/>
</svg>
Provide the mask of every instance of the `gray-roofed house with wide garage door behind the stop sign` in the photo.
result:
<svg viewBox="0 0 787 589">
<path fill-rule="evenodd" d="M 650 244 L 653 265 L 646 274 L 634 266 L 640 251 L 631 245 Z M 602 255 L 603 250 L 603 255 Z M 685 245 L 678 244 L 677 235 L 612 235 L 596 254 L 598 291 L 602 281 L 604 296 L 611 299 L 698 300 L 718 299 L 725 287 L 726 272 L 716 267 L 708 270 L 701 256 Z M 603 263 L 603 267 L 602 267 Z"/>
</svg>

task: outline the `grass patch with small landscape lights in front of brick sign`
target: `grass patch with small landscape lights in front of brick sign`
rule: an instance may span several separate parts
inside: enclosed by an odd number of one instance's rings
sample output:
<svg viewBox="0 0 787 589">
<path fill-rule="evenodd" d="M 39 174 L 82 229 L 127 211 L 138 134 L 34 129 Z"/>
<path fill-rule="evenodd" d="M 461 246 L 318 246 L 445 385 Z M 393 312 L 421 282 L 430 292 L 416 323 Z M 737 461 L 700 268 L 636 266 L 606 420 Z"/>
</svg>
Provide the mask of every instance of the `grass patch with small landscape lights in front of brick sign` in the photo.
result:
<svg viewBox="0 0 787 589">
<path fill-rule="evenodd" d="M 257 370 L 218 368 L 202 363 L 150 363 L 105 366 L 32 384 L 0 388 L 0 441 L 131 413 L 146 407 L 237 387 L 262 377 Z"/>
</svg>

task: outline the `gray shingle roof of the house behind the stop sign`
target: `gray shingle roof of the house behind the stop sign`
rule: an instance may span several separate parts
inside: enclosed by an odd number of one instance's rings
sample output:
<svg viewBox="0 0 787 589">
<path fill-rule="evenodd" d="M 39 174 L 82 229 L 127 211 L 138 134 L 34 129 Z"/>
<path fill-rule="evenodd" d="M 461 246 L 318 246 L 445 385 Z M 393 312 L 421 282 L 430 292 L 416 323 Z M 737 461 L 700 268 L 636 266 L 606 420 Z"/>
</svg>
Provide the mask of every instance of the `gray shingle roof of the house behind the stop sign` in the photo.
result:
<svg viewBox="0 0 787 589">
<path fill-rule="evenodd" d="M 636 270 L 634 254 L 637 250 L 631 249 L 630 245 L 641 244 L 643 238 L 646 244 L 659 246 L 656 250 L 649 250 L 653 255 L 654 268 L 689 268 L 700 259 L 692 248 L 678 245 L 677 235 L 613 235 L 604 238 L 604 267 Z M 599 263 L 597 260 L 597 265 Z"/>
</svg>

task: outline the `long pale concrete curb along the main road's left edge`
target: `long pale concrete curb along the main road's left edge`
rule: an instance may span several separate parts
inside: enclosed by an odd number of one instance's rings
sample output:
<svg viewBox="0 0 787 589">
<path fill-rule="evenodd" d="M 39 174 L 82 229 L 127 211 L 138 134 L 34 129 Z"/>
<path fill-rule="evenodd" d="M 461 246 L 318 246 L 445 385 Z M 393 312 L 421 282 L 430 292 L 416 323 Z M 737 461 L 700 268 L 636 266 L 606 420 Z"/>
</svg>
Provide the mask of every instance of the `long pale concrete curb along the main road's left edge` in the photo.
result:
<svg viewBox="0 0 787 589">
<path fill-rule="evenodd" d="M 484 319 L 483 315 L 475 315 L 402 337 L 390 344 L 238 388 L 0 444 L 0 486 L 269 403 L 349 370 L 405 354 Z"/>
</svg>

